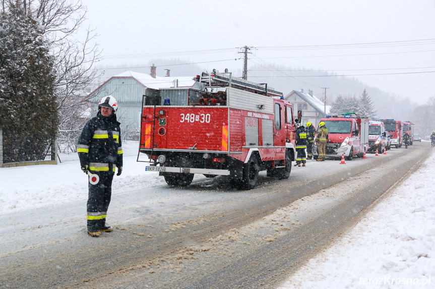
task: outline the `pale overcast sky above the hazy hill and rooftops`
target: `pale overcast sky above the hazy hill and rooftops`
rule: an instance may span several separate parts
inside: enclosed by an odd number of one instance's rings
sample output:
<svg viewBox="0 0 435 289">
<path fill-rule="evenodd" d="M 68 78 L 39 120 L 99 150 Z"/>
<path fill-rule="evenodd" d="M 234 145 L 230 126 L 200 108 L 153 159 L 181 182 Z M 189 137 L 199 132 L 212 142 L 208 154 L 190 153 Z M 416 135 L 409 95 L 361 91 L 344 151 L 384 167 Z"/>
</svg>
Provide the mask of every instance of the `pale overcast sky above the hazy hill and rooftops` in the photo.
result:
<svg viewBox="0 0 435 289">
<path fill-rule="evenodd" d="M 238 52 L 248 46 L 248 69 L 283 64 L 333 71 L 419 104 L 435 95 L 433 0 L 82 2 L 87 24 L 99 34 L 101 67 L 134 67 L 165 57 L 231 71 L 242 69 Z"/>
</svg>

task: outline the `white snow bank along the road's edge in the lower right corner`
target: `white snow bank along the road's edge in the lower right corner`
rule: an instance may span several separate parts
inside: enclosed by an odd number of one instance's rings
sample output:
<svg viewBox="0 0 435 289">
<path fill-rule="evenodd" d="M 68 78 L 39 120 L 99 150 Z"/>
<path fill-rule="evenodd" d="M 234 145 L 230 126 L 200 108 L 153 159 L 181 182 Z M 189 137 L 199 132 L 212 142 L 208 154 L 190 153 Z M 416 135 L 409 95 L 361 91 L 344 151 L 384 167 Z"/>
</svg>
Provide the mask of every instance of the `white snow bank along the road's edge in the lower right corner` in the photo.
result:
<svg viewBox="0 0 435 289">
<path fill-rule="evenodd" d="M 435 153 L 279 289 L 434 288 Z"/>
</svg>

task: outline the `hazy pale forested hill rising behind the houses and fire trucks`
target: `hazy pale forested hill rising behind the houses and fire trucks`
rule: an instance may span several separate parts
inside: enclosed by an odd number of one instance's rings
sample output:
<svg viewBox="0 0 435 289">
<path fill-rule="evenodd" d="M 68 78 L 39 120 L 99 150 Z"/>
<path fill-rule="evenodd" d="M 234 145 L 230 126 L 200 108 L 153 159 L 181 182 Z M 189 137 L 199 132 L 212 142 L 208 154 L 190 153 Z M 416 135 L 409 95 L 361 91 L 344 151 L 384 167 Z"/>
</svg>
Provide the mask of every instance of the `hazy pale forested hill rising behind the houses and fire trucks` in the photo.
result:
<svg viewBox="0 0 435 289">
<path fill-rule="evenodd" d="M 150 73 L 150 66 L 155 64 L 157 67 L 156 73 L 158 76 L 165 76 L 166 70 L 170 69 L 171 76 L 189 76 L 195 75 L 208 71 L 210 72 L 213 68 L 223 72 L 225 66 L 220 63 L 216 65 L 206 64 L 208 67 L 205 68 L 201 64 L 185 64 L 192 61 L 182 60 L 182 59 L 155 59 L 147 64 L 123 64 L 118 66 L 106 67 L 104 69 L 104 75 L 98 79 L 98 83 L 102 83 L 111 76 L 119 74 L 121 72 L 131 70 L 141 73 Z M 184 65 L 176 65 L 182 63 Z M 209 67 L 211 65 L 211 67 Z M 220 67 L 222 66 L 222 67 Z M 273 70 L 273 71 L 272 71 Z M 241 77 L 242 69 L 230 70 L 233 76 Z M 303 77 L 296 75 L 304 75 Z M 314 77 L 317 75 L 319 77 Z M 336 75 L 327 71 L 313 71 L 312 68 L 300 68 L 300 67 L 289 67 L 274 65 L 273 68 L 258 66 L 258 65 L 248 65 L 248 80 L 268 83 L 269 86 L 275 88 L 278 91 L 282 91 L 284 95 L 290 93 L 292 90 L 303 89 L 304 92 L 308 93 L 308 90 L 313 90 L 314 95 L 319 99 L 324 100 L 325 90 L 322 87 L 328 87 L 326 90 L 327 103 L 332 104 L 337 95 L 342 95 L 343 97 L 354 95 L 359 98 L 362 91 L 365 89 L 371 101 L 375 105 L 375 110 L 377 110 L 377 117 L 382 119 L 398 119 L 398 120 L 411 120 L 411 113 L 417 104 L 412 103 L 409 99 L 400 97 L 400 95 L 395 95 L 394 93 L 388 91 L 382 91 L 377 87 L 371 87 L 369 84 L 359 81 L 355 77 L 345 77 L 345 76 L 324 76 L 324 75 Z"/>
</svg>

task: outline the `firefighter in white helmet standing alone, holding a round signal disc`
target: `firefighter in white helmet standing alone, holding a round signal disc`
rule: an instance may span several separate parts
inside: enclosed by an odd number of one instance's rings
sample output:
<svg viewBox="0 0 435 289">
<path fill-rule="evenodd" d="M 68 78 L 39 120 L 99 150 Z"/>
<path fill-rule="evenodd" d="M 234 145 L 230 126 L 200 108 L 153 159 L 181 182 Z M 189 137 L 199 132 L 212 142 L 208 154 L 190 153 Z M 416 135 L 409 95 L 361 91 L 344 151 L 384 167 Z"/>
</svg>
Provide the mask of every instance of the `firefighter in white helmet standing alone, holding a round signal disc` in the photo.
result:
<svg viewBox="0 0 435 289">
<path fill-rule="evenodd" d="M 103 97 L 98 105 L 97 116 L 89 120 L 79 137 L 77 152 L 81 169 L 96 178 L 89 179 L 87 204 L 88 234 L 98 237 L 101 232 L 111 232 L 106 225 L 110 203 L 112 180 L 122 172 L 122 147 L 119 122 L 116 120 L 118 106 L 111 95 Z"/>
</svg>

